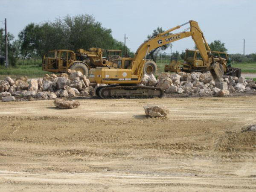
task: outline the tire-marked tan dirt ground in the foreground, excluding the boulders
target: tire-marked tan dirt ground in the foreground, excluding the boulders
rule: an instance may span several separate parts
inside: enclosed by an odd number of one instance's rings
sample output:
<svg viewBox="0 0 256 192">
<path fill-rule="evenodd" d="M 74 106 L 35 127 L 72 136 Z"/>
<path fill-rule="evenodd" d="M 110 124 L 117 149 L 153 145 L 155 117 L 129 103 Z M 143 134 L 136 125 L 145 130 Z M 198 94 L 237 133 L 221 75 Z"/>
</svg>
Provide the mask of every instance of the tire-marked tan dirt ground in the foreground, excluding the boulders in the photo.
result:
<svg viewBox="0 0 256 192">
<path fill-rule="evenodd" d="M 0 103 L 0 191 L 256 190 L 256 96 L 79 102 Z"/>
</svg>

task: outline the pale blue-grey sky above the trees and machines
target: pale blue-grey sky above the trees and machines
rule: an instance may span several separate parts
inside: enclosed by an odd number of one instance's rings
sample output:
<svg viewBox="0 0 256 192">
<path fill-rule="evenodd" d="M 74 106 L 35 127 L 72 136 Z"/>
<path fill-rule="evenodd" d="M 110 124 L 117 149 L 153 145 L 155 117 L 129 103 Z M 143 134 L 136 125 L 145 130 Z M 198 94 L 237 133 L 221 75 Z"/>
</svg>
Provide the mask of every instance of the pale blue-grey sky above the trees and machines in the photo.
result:
<svg viewBox="0 0 256 192">
<path fill-rule="evenodd" d="M 158 26 L 167 30 L 195 20 L 208 43 L 221 40 L 229 53 L 243 53 L 245 39 L 245 54 L 256 52 L 256 0 L 0 0 L 0 9 L 0 21 L 7 18 L 7 30 L 15 37 L 32 22 L 89 14 L 112 29 L 118 41 L 126 34 L 126 44 L 135 52 Z M 194 45 L 189 37 L 174 42 L 172 50 Z"/>
</svg>

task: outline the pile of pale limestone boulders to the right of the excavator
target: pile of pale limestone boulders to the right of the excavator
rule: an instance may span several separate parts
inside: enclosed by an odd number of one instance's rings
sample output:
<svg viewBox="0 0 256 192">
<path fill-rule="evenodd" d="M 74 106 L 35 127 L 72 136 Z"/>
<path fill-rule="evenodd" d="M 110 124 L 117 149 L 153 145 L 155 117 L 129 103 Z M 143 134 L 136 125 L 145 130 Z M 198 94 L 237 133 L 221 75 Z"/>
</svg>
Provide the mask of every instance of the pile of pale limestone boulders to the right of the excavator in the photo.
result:
<svg viewBox="0 0 256 192">
<path fill-rule="evenodd" d="M 144 75 L 142 85 L 159 87 L 165 93 L 177 93 L 195 96 L 227 96 L 235 92 L 256 91 L 256 83 L 244 77 L 223 76 L 222 81 L 215 84 L 210 72 L 178 74 L 161 73 L 156 79 L 153 75 Z"/>
</svg>

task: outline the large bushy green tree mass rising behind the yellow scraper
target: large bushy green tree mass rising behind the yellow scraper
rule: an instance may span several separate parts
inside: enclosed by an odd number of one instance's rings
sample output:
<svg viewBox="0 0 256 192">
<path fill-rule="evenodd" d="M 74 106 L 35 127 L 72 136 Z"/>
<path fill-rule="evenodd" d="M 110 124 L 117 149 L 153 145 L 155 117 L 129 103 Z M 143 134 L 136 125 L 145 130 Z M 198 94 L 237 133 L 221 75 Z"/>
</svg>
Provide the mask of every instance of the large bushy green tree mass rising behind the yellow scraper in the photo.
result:
<svg viewBox="0 0 256 192">
<path fill-rule="evenodd" d="M 54 22 L 30 23 L 20 32 L 19 39 L 24 57 L 38 55 L 42 59 L 52 49 L 123 48 L 123 43 L 112 37 L 111 29 L 102 27 L 92 15 L 67 15 Z"/>
</svg>

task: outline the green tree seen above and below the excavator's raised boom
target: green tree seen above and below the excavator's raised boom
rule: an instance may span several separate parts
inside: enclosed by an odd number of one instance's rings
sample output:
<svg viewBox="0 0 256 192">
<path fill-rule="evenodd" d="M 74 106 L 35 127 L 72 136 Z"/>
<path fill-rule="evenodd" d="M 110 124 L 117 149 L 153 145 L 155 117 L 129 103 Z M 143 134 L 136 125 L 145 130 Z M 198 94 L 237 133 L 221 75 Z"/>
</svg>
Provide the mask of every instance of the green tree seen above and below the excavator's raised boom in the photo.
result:
<svg viewBox="0 0 256 192">
<path fill-rule="evenodd" d="M 154 29 L 152 35 L 148 35 L 147 38 L 149 40 L 151 38 L 156 37 L 158 34 L 160 34 L 162 32 L 164 32 L 162 27 L 157 27 L 157 29 Z M 166 34 L 166 35 L 169 35 L 169 33 Z M 154 62 L 156 62 L 157 56 L 160 54 L 160 52 L 163 51 L 163 50 L 166 50 L 169 46 L 170 46 L 170 44 L 166 44 L 166 45 L 163 45 L 161 47 L 157 47 L 157 48 L 153 49 L 151 52 L 148 53 L 149 58 L 152 59 Z"/>
</svg>

